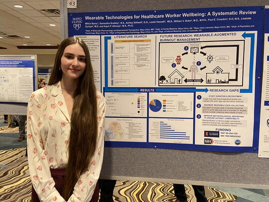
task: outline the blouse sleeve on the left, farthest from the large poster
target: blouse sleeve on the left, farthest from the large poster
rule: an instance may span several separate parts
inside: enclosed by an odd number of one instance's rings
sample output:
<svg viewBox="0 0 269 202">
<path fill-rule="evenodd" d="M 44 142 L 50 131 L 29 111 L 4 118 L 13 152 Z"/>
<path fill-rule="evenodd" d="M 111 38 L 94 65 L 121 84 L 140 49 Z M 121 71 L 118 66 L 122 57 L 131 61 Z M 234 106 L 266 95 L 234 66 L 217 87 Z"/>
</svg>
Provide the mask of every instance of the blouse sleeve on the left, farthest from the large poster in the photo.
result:
<svg viewBox="0 0 269 202">
<path fill-rule="evenodd" d="M 46 110 L 44 104 L 43 89 L 32 93 L 27 107 L 27 151 L 30 178 L 32 185 L 41 202 L 63 202 L 64 199 L 55 189 L 47 151 L 44 150 L 45 139 L 41 136 L 40 127 L 42 124 L 41 114 Z"/>
</svg>

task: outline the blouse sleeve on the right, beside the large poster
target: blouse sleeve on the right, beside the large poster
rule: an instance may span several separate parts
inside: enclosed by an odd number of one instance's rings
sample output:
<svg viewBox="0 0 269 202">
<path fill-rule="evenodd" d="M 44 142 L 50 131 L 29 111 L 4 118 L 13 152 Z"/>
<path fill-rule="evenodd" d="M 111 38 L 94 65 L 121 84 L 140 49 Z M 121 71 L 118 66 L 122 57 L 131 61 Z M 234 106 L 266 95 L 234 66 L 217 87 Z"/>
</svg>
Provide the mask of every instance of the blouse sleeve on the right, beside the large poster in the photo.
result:
<svg viewBox="0 0 269 202">
<path fill-rule="evenodd" d="M 98 136 L 95 154 L 92 157 L 88 170 L 81 175 L 76 183 L 74 192 L 68 202 L 89 202 L 99 179 L 104 154 L 104 122 L 106 111 L 106 100 L 100 92 L 97 93 L 97 107 Z"/>
</svg>

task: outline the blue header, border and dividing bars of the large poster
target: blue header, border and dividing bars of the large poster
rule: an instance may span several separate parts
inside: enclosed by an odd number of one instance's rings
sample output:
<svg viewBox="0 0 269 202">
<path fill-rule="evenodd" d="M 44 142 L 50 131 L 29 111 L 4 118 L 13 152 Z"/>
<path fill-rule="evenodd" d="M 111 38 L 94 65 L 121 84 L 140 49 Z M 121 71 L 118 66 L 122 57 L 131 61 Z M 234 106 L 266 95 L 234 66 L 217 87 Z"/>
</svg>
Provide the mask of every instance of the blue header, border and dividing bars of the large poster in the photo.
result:
<svg viewBox="0 0 269 202">
<path fill-rule="evenodd" d="M 267 9 L 268 10 L 268 9 Z M 219 20 L 213 20 L 208 21 L 205 19 L 205 16 L 202 16 L 201 13 L 218 13 L 219 14 Z M 244 14 L 239 14 L 239 13 Z M 255 12 L 255 14 L 254 14 Z M 133 32 L 125 32 L 120 33 L 121 30 L 124 30 L 126 27 L 131 28 L 132 26 L 132 20 L 134 21 L 134 18 L 131 18 L 131 16 L 138 16 L 138 15 L 162 15 L 162 14 L 179 14 L 181 13 L 181 16 L 183 13 L 186 13 L 184 17 L 165 17 L 159 19 L 160 22 L 154 22 L 152 19 L 144 18 L 142 21 L 143 24 L 139 24 L 139 27 L 141 28 L 149 28 L 149 31 L 147 33 L 135 33 Z M 197 16 L 193 16 L 193 14 Z M 223 14 L 223 13 L 229 13 L 229 14 Z M 237 13 L 237 14 L 235 14 Z M 188 16 L 187 16 L 188 15 Z M 86 17 L 87 16 L 87 17 Z M 106 20 L 102 19 L 103 17 L 108 16 Z M 116 18 L 115 18 L 116 17 Z M 117 17 L 120 17 L 120 19 L 117 19 Z M 129 17 L 129 18 L 128 18 Z M 216 16 L 217 17 L 217 16 Z M 87 18 L 87 19 L 86 19 Z M 224 19 L 229 20 L 224 20 Z M 185 20 L 185 21 L 179 21 L 178 23 L 174 23 L 171 26 L 170 20 Z M 113 21 L 117 23 L 118 25 L 122 25 L 122 27 L 117 28 L 119 29 L 118 32 L 111 32 L 110 27 L 90 27 L 92 26 L 91 23 L 100 23 L 104 21 Z M 161 22 L 165 20 L 165 23 Z M 189 21 L 191 20 L 191 21 Z M 246 27 L 246 21 L 247 25 L 253 24 L 253 26 Z M 243 34 L 243 37 L 251 37 L 251 44 L 254 45 L 255 41 L 255 35 L 252 34 L 251 31 L 257 31 L 257 52 L 256 52 L 256 64 L 251 64 L 253 67 L 255 66 L 255 72 L 256 77 L 250 78 L 250 85 L 248 89 L 241 89 L 240 92 L 244 93 L 253 93 L 253 90 L 255 89 L 255 111 L 254 111 L 254 135 L 253 135 L 253 146 L 252 147 L 238 147 L 238 146 L 213 146 L 213 145 L 189 145 L 189 144 L 172 144 L 172 143 L 149 143 L 148 142 L 148 114 L 147 114 L 147 142 L 141 143 L 141 142 L 110 142 L 106 141 L 105 146 L 107 147 L 134 147 L 134 148 L 161 148 L 161 149 L 182 149 L 182 150 L 203 150 L 203 151 L 218 151 L 218 152 L 251 152 L 251 153 L 258 153 L 258 147 L 259 147 L 259 122 L 260 122 L 260 106 L 261 106 L 261 87 L 262 87 L 262 59 L 261 55 L 263 53 L 263 35 L 264 35 L 264 27 L 263 23 L 261 23 L 262 20 L 266 20 L 265 18 L 265 6 L 240 6 L 240 7 L 217 7 L 217 8 L 193 8 L 193 9 L 174 9 L 174 10 L 146 10 L 146 11 L 117 11 L 117 12 L 83 12 L 83 13 L 68 13 L 68 34 L 69 36 L 73 35 L 134 35 L 134 34 L 160 34 L 160 33 L 202 33 L 202 32 L 225 32 L 225 31 L 246 31 Z M 124 21 L 124 22 L 123 22 Z M 156 20 L 157 21 L 157 20 Z M 221 24 L 223 27 L 219 27 L 219 22 L 221 21 Z M 123 22 L 123 23 L 121 23 Z M 150 22 L 150 23 L 149 23 Z M 192 27 L 200 27 L 199 30 L 190 30 L 185 29 L 181 30 L 180 32 L 176 32 L 175 29 L 170 29 L 165 32 L 162 30 L 166 30 L 166 28 L 171 26 L 171 28 L 176 28 L 175 26 L 189 26 L 189 23 L 192 23 Z M 80 24 L 80 25 L 78 25 Z M 262 25 L 261 25 L 262 24 Z M 124 26 L 123 26 L 124 25 Z M 134 25 L 134 24 L 133 24 Z M 198 26 L 199 25 L 199 26 Z M 210 26 L 209 26 L 210 25 Z M 88 27 L 86 27 L 88 26 Z M 158 27 L 158 30 L 153 29 L 154 27 Z M 202 26 L 202 28 L 201 28 Z M 152 28 L 153 27 L 153 28 Z M 205 27 L 212 27 L 212 28 L 205 28 Z M 218 27 L 218 28 L 216 28 Z M 87 29 L 88 28 L 88 29 Z M 132 27 L 132 28 L 135 28 Z M 115 28 L 116 29 L 116 28 Z M 151 30 L 152 29 L 152 30 Z M 162 29 L 162 30 L 161 30 Z M 268 29 L 268 26 L 267 26 Z M 98 31 L 99 30 L 99 31 Z M 177 29 L 177 31 L 179 31 Z M 105 37 L 105 41 L 102 41 L 101 38 L 101 44 L 104 43 L 105 46 L 105 67 L 107 67 L 107 47 L 106 47 L 106 40 L 109 40 L 109 36 Z M 251 51 L 253 51 L 254 55 L 254 46 L 251 47 Z M 102 55 L 101 55 L 102 56 Z M 101 60 L 102 62 L 102 60 Z M 251 62 L 252 59 L 251 59 Z M 102 66 L 102 64 L 101 64 Z M 254 69 L 253 69 L 254 71 Z M 101 74 L 102 76 L 102 74 Z M 250 75 L 251 76 L 251 75 Z M 255 79 L 255 87 L 252 89 L 252 82 Z M 102 83 L 102 82 L 101 82 Z M 101 84 L 102 85 L 102 84 Z M 102 86 L 101 86 L 102 89 Z M 105 69 L 105 86 L 103 87 L 103 93 L 106 92 L 139 92 L 138 87 L 132 87 L 132 88 L 110 88 L 108 87 L 108 79 L 107 79 L 107 69 Z M 199 91 L 201 89 L 194 88 L 180 88 L 180 89 L 169 89 L 169 88 L 161 88 L 157 87 L 155 88 L 155 92 L 195 92 Z M 204 92 L 207 92 L 208 89 L 203 89 Z M 148 94 L 147 94 L 148 96 Z M 195 99 L 194 99 L 195 100 Z M 148 103 L 147 103 L 148 104 Z M 147 110 L 148 111 L 148 110 Z M 124 117 L 118 117 L 118 118 L 124 118 Z M 130 118 L 130 117 L 128 117 Z M 194 118 L 195 122 L 195 118 Z M 195 126 L 195 124 L 194 124 Z M 195 139 L 195 136 L 194 136 Z"/>
</svg>

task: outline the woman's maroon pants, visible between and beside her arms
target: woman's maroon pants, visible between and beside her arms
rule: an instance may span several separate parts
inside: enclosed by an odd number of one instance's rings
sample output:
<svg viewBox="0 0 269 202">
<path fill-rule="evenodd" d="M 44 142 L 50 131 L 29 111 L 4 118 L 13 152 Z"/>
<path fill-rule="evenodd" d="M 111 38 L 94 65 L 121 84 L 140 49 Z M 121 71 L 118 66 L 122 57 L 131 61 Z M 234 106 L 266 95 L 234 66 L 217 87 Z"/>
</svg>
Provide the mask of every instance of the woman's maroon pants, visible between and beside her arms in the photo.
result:
<svg viewBox="0 0 269 202">
<path fill-rule="evenodd" d="M 63 187 L 64 187 L 65 169 L 64 168 L 50 169 L 50 173 L 51 173 L 51 177 L 53 178 L 55 182 L 55 189 L 60 193 L 60 195 L 62 195 Z M 98 187 L 98 182 L 97 182 L 93 197 L 90 202 L 98 202 L 98 199 L 99 199 L 99 187 Z M 31 202 L 40 202 L 33 186 L 32 186 Z"/>
</svg>

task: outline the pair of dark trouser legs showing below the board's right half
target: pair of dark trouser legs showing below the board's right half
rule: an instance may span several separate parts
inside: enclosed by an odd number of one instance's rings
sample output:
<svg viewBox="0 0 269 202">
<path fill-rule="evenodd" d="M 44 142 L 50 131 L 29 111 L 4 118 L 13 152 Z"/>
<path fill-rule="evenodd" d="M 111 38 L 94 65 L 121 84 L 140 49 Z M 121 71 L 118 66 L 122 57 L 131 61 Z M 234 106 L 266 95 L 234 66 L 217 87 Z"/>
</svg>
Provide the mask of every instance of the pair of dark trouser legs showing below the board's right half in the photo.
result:
<svg viewBox="0 0 269 202">
<path fill-rule="evenodd" d="M 173 186 L 176 197 L 175 202 L 187 202 L 187 195 L 184 185 L 173 184 Z M 197 202 L 207 202 L 204 186 L 192 185 L 192 188 L 194 190 L 194 195 Z"/>
</svg>

